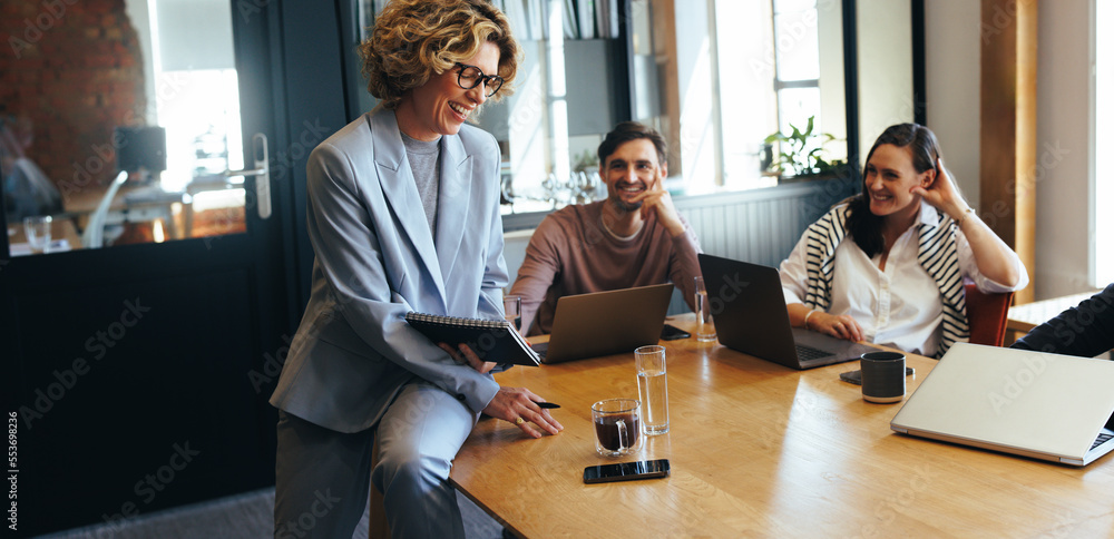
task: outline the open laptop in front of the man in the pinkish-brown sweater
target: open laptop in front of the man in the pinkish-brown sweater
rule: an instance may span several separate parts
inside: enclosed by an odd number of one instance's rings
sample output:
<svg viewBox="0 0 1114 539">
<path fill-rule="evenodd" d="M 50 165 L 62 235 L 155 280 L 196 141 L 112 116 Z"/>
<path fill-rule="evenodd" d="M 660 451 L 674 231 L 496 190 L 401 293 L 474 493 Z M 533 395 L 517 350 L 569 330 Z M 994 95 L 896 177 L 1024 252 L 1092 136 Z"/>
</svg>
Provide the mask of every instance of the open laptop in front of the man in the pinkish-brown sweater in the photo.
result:
<svg viewBox="0 0 1114 539">
<path fill-rule="evenodd" d="M 549 342 L 534 350 L 544 355 L 543 363 L 560 363 L 657 344 L 672 295 L 672 284 L 656 284 L 563 296 Z"/>
</svg>

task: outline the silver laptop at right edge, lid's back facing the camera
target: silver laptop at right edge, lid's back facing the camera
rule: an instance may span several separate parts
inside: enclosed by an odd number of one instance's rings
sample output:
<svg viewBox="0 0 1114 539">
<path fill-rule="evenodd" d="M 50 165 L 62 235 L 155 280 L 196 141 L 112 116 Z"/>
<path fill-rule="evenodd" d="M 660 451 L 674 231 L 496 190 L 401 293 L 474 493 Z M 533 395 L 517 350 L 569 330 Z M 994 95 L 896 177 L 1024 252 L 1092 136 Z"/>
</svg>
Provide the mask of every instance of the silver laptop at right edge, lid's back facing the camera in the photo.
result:
<svg viewBox="0 0 1114 539">
<path fill-rule="evenodd" d="M 1114 362 L 957 343 L 890 428 L 1086 465 L 1114 449 L 1112 414 Z"/>
</svg>

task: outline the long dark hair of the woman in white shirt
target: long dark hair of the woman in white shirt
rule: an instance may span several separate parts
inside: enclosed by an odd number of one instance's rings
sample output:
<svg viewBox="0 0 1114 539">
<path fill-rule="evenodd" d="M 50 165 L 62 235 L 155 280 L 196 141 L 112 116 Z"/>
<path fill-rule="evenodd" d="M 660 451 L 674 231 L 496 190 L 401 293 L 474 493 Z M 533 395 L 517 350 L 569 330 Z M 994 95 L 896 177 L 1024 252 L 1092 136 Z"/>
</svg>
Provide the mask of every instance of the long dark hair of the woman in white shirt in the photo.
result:
<svg viewBox="0 0 1114 539">
<path fill-rule="evenodd" d="M 874 145 L 867 154 L 867 161 L 874 155 L 874 149 L 883 144 L 890 144 L 899 148 L 907 148 L 912 156 L 912 166 L 918 174 L 936 168 L 936 159 L 940 156 L 940 145 L 936 141 L 936 135 L 919 124 L 898 124 L 887 127 Z M 866 173 L 863 173 L 862 192 L 849 198 L 850 215 L 847 218 L 847 227 L 854 238 L 854 243 L 867 254 L 873 257 L 881 253 L 885 244 L 882 242 L 882 218 L 870 212 L 870 193 L 867 192 Z"/>
</svg>

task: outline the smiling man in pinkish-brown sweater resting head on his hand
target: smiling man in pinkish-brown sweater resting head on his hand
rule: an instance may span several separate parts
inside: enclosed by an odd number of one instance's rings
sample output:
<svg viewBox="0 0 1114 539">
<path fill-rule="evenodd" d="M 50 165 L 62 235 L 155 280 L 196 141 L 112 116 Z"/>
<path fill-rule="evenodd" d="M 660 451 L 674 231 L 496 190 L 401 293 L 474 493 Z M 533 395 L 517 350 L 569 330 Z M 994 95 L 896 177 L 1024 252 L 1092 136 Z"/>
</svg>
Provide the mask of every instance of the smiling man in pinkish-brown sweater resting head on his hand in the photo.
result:
<svg viewBox="0 0 1114 539">
<path fill-rule="evenodd" d="M 528 335 L 549 333 L 565 295 L 672 282 L 693 304 L 700 244 L 663 185 L 665 139 L 624 121 L 597 155 L 607 199 L 549 214 L 526 248 L 510 293 L 522 296 Z"/>
</svg>

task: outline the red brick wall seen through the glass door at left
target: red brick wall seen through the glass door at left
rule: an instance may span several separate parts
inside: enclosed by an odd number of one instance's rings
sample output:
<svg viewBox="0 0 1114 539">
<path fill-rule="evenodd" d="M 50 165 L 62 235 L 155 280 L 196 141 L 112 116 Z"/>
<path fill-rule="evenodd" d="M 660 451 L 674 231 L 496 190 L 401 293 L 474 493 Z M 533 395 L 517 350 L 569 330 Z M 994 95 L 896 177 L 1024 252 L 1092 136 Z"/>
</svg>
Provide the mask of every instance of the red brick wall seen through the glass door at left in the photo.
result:
<svg viewBox="0 0 1114 539">
<path fill-rule="evenodd" d="M 66 196 L 106 184 L 113 129 L 143 124 L 143 58 L 124 2 L 0 2 L 0 109 L 30 119 L 26 153 Z"/>
</svg>

